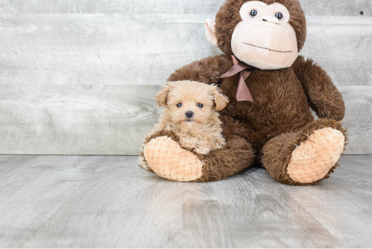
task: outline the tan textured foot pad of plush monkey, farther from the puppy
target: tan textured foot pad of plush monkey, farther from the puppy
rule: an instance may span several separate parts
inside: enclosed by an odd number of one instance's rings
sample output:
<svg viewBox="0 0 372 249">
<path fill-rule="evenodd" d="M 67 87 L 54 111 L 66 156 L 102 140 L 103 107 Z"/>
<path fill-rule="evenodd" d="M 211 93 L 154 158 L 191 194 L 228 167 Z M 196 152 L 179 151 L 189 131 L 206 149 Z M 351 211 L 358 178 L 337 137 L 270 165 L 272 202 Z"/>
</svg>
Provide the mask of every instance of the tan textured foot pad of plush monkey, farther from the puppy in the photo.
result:
<svg viewBox="0 0 372 249">
<path fill-rule="evenodd" d="M 330 127 L 315 130 L 293 150 L 287 174 L 301 184 L 322 179 L 340 159 L 344 145 L 341 131 Z"/>
</svg>

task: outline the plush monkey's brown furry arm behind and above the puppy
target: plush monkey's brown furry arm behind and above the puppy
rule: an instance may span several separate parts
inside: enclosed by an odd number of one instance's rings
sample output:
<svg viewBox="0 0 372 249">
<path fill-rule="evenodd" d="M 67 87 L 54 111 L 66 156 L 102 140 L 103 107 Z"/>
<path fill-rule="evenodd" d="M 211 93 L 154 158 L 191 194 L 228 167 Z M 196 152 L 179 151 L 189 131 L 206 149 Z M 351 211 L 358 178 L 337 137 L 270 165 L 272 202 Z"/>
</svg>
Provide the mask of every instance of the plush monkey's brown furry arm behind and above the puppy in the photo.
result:
<svg viewBox="0 0 372 249">
<path fill-rule="evenodd" d="M 190 64 L 177 69 L 169 77 L 169 81 L 192 80 L 206 84 L 221 83 L 219 78 L 231 68 L 230 58 L 226 55 L 216 55 L 191 62 Z"/>
</svg>

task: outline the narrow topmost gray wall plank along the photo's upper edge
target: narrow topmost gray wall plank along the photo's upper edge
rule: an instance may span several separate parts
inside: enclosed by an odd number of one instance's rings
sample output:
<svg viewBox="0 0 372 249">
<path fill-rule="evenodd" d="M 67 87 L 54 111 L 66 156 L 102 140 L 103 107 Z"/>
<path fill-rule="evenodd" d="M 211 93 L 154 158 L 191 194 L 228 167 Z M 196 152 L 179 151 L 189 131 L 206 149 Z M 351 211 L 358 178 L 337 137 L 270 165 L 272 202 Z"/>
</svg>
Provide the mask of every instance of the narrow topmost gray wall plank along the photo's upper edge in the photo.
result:
<svg viewBox="0 0 372 249">
<path fill-rule="evenodd" d="M 0 13 L 216 13 L 224 0 L 2 0 Z M 371 0 L 300 0 L 306 15 L 372 15 Z"/>
</svg>

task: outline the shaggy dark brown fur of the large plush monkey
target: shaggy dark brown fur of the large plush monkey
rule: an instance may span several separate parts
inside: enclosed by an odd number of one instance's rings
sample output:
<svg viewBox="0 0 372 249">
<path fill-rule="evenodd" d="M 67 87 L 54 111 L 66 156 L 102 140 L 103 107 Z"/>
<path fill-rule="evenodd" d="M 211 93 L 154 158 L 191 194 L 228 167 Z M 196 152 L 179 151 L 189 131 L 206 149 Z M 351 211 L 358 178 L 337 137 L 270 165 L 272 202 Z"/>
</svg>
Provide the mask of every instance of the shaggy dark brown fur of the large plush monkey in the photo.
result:
<svg viewBox="0 0 372 249">
<path fill-rule="evenodd" d="M 306 21 L 297 0 L 262 0 L 267 4 L 279 2 L 290 12 L 289 23 L 296 32 L 300 50 L 306 38 Z M 294 64 L 280 70 L 256 69 L 246 80 L 254 102 L 237 102 L 235 98 L 239 75 L 220 79 L 232 67 L 231 36 L 241 21 L 239 9 L 247 0 L 227 0 L 216 15 L 215 34 L 223 55 L 192 62 L 176 70 L 169 81 L 190 80 L 218 85 L 230 99 L 220 111 L 226 147 L 209 155 L 197 155 L 204 163 L 203 176 L 198 181 L 216 181 L 234 175 L 254 161 L 260 162 L 279 182 L 291 185 L 310 185 L 293 181 L 287 165 L 296 146 L 315 130 L 331 127 L 341 131 L 347 140 L 346 129 L 339 123 L 344 117 L 342 95 L 326 72 L 311 59 L 299 56 Z M 314 121 L 310 108 L 320 118 Z M 154 134 L 152 138 L 162 134 Z M 164 135 L 164 134 L 163 134 Z M 174 134 L 169 134 L 177 141 Z M 150 140 L 149 140 L 150 141 Z M 336 163 L 323 178 L 338 166 Z"/>
</svg>

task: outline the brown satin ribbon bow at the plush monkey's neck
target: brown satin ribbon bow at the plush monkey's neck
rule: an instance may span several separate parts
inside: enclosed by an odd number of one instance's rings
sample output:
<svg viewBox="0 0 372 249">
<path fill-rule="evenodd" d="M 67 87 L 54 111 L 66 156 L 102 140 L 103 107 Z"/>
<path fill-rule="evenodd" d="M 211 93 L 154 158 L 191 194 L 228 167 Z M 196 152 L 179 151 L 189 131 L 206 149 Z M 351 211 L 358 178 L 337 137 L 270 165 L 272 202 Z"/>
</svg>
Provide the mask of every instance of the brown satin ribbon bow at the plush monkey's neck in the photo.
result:
<svg viewBox="0 0 372 249">
<path fill-rule="evenodd" d="M 251 93 L 249 92 L 249 89 L 247 87 L 247 84 L 245 84 L 245 80 L 251 75 L 254 67 L 240 61 L 238 58 L 235 57 L 235 55 L 231 55 L 232 61 L 233 61 L 233 67 L 225 74 L 221 75 L 220 78 L 227 78 L 234 76 L 238 73 L 239 75 L 239 82 L 238 86 L 236 88 L 236 100 L 238 102 L 240 101 L 251 101 L 253 102 L 253 98 Z"/>
</svg>

